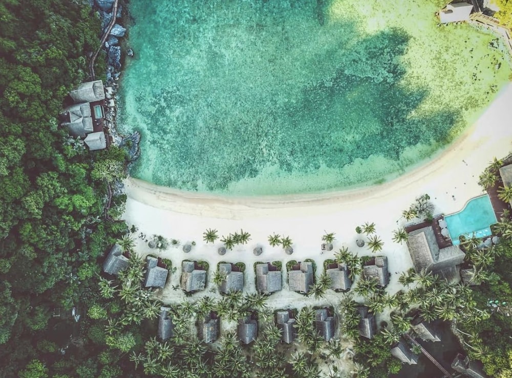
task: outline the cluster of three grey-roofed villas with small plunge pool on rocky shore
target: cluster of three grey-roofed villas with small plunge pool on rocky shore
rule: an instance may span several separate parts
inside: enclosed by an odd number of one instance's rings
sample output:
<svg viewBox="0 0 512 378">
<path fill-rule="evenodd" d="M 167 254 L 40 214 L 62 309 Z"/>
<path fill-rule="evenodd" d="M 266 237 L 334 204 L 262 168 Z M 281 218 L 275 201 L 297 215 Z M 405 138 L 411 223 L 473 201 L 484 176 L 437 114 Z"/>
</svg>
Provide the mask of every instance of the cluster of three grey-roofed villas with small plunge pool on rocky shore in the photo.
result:
<svg viewBox="0 0 512 378">
<path fill-rule="evenodd" d="M 105 90 L 101 80 L 80 84 L 69 93 L 73 104 L 67 106 L 61 117 L 62 126 L 68 128 L 70 136 L 82 138 L 89 150 L 106 148 L 103 132 Z"/>
</svg>

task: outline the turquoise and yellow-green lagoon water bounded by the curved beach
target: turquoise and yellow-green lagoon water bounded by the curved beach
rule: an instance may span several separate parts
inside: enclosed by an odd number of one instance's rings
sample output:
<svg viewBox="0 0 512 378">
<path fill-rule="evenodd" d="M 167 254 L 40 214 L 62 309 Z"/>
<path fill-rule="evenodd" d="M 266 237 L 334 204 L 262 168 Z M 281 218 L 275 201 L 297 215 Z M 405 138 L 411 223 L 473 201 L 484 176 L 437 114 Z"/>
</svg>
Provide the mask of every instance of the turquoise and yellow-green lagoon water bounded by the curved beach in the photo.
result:
<svg viewBox="0 0 512 378">
<path fill-rule="evenodd" d="M 494 36 L 428 0 L 131 0 L 131 174 L 265 195 L 372 185 L 453 141 L 507 81 Z"/>
</svg>

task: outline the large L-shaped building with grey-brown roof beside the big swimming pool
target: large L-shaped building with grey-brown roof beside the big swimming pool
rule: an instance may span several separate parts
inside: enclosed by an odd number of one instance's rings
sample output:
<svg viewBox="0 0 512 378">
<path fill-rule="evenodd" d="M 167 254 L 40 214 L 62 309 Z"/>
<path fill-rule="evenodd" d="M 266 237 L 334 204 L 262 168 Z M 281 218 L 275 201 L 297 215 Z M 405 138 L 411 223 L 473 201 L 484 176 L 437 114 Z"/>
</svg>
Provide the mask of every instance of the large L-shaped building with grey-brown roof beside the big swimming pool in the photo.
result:
<svg viewBox="0 0 512 378">
<path fill-rule="evenodd" d="M 456 265 L 463 262 L 465 256 L 458 246 L 439 249 L 432 226 L 411 231 L 407 247 L 416 272 L 423 269 L 433 273 L 453 270 Z"/>
</svg>

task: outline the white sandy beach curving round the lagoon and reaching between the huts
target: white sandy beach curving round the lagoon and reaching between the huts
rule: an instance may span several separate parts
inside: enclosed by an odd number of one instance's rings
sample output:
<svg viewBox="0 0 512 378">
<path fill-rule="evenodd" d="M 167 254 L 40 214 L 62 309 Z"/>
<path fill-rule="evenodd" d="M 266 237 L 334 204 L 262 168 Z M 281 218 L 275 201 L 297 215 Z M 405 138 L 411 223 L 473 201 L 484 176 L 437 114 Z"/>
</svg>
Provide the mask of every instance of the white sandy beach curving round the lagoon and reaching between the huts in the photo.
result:
<svg viewBox="0 0 512 378">
<path fill-rule="evenodd" d="M 407 209 L 415 197 L 428 193 L 436 213 L 447 214 L 462 209 L 468 199 L 482 194 L 483 190 L 477 184 L 478 175 L 493 157 L 504 157 L 511 150 L 511 105 L 512 84 L 509 84 L 476 124 L 454 144 L 432 161 L 379 186 L 317 195 L 227 198 L 182 192 L 128 179 L 125 183 L 128 199 L 124 219 L 129 226 L 135 225 L 139 232 L 148 236 L 157 234 L 178 239 L 181 244 L 197 243 L 190 253 L 185 254 L 181 247 L 163 252 L 152 250 L 147 243 L 137 239 L 138 250 L 144 255 L 156 253 L 172 259 L 173 265 L 178 266 L 159 295 L 164 302 L 177 302 L 184 298 L 181 290 L 172 290 L 172 285 L 179 284 L 180 264 L 185 258 L 209 261 L 210 277 L 220 260 L 243 261 L 247 265 L 246 291 L 253 292 L 254 261 L 281 260 L 285 270 L 285 263 L 291 259 L 314 258 L 319 274 L 324 259 L 332 257 L 341 246 L 347 246 L 359 255 L 371 255 L 367 247 L 355 245 L 355 227 L 366 221 L 376 224 L 377 234 L 384 241 L 382 253 L 388 256 L 392 273 L 388 291 L 394 293 L 401 288 L 398 273 L 412 267 L 407 247 L 391 240 L 392 231 L 406 223 L 401 218 L 402 210 Z M 220 242 L 206 245 L 202 240 L 207 228 L 217 229 L 219 235 L 243 229 L 251 234 L 251 240 L 221 257 L 217 254 Z M 332 252 L 321 254 L 321 237 L 326 231 L 335 232 L 336 240 Z M 290 236 L 293 255 L 288 256 L 281 248 L 269 246 L 268 235 L 274 232 Z M 258 257 L 252 253 L 257 245 L 264 251 Z M 210 287 L 195 296 L 217 296 L 208 292 Z M 334 304 L 339 298 L 340 294 L 330 291 L 324 300 L 308 299 L 308 304 Z M 273 294 L 269 301 L 275 307 L 302 307 L 304 303 L 302 295 L 288 290 Z"/>
</svg>

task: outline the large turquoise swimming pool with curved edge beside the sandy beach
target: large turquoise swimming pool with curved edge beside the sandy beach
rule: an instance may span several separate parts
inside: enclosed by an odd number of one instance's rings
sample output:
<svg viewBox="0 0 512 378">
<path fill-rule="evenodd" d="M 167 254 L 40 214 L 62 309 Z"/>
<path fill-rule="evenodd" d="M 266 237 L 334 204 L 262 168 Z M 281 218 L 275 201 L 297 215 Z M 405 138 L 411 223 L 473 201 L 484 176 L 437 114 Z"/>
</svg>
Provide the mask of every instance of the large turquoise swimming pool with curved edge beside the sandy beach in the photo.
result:
<svg viewBox="0 0 512 378">
<path fill-rule="evenodd" d="M 460 243 L 459 236 L 485 237 L 492 235 L 490 225 L 497 222 L 496 214 L 487 194 L 470 199 L 464 208 L 444 217 L 452 242 Z"/>
</svg>

